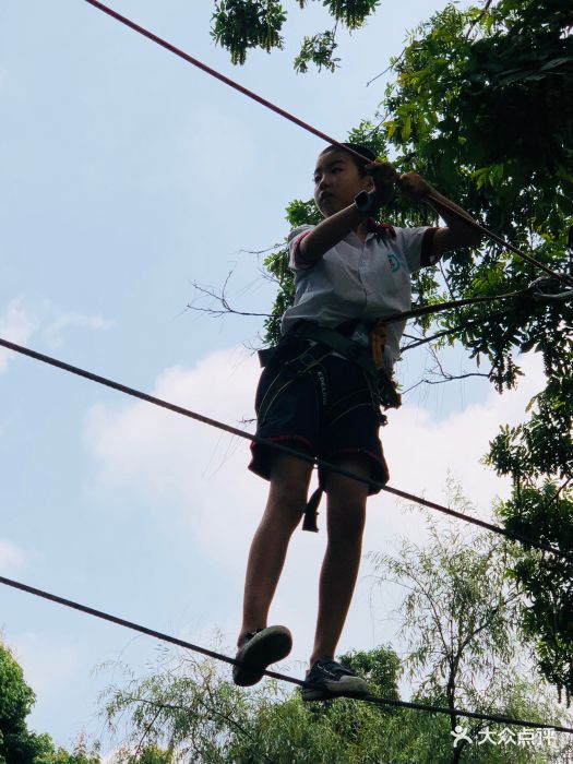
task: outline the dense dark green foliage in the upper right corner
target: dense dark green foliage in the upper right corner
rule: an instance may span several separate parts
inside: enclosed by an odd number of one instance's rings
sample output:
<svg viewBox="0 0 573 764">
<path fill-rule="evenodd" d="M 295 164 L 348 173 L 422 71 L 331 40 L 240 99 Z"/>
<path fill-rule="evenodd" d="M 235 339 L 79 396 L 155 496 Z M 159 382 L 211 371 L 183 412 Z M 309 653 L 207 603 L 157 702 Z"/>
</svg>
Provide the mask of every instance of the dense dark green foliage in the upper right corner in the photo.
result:
<svg viewBox="0 0 573 764">
<path fill-rule="evenodd" d="M 538 260 L 564 271 L 573 214 L 573 38 L 566 26 L 573 13 L 554 13 L 554 5 L 500 0 L 485 10 L 450 5 L 434 15 L 394 61 L 384 128 L 394 150 L 414 154 L 418 171 L 442 193 L 517 247 L 535 244 Z M 539 276 L 487 242 L 479 258 L 455 253 L 449 266 L 456 297 L 499 295 Z M 471 356 L 489 358 L 500 391 L 516 382 L 516 350 L 535 346 L 549 372 L 556 358 L 570 358 L 566 332 L 556 330 L 561 321 L 571 326 L 571 305 L 517 308 L 496 321 L 488 320 L 491 307 L 438 321 L 453 329 L 476 320 L 459 339 Z"/>
</svg>

